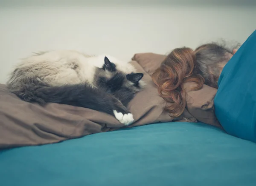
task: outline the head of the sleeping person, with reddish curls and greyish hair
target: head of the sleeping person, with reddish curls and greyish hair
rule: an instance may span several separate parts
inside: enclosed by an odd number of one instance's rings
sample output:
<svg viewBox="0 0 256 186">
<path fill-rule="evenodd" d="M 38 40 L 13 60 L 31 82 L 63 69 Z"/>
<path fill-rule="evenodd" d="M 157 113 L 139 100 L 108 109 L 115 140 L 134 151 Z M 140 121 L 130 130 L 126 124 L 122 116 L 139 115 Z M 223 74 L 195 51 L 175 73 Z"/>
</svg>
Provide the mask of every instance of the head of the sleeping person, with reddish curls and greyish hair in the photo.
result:
<svg viewBox="0 0 256 186">
<path fill-rule="evenodd" d="M 192 90 L 201 89 L 204 83 L 218 88 L 221 71 L 234 52 L 216 43 L 199 46 L 195 51 L 186 47 L 174 49 L 152 76 L 160 96 L 169 103 L 165 109 L 173 117 L 183 113 L 185 83 L 190 82 Z"/>
</svg>

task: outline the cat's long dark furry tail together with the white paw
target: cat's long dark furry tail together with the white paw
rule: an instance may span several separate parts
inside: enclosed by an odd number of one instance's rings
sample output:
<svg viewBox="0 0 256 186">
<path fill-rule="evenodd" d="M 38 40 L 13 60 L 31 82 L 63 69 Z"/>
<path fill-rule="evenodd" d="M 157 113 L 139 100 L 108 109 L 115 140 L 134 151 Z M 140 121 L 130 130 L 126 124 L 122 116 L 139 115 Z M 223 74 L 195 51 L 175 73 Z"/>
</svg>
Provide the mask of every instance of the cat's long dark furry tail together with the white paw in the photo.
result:
<svg viewBox="0 0 256 186">
<path fill-rule="evenodd" d="M 7 86 L 10 92 L 27 102 L 61 103 L 93 109 L 111 114 L 125 125 L 134 121 L 133 115 L 116 97 L 87 83 L 50 86 L 37 79 L 27 79 Z"/>
</svg>

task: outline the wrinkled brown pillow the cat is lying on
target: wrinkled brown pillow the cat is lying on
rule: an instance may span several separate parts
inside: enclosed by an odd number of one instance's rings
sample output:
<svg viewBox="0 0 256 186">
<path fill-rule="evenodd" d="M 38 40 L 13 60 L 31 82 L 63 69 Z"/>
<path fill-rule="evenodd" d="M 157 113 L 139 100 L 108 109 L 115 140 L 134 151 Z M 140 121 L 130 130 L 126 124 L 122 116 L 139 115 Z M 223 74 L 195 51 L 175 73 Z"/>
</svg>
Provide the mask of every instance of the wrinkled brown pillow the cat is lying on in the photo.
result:
<svg viewBox="0 0 256 186">
<path fill-rule="evenodd" d="M 163 112 L 165 102 L 158 95 L 151 77 L 136 61 L 131 63 L 138 72 L 144 73 L 143 80 L 147 83 L 129 103 L 135 120 L 131 126 L 173 121 L 173 117 Z M 186 119 L 190 118 L 187 114 Z M 113 116 L 91 109 L 57 103 L 40 106 L 22 101 L 0 84 L 0 149 L 57 143 L 121 127 L 124 125 Z"/>
</svg>

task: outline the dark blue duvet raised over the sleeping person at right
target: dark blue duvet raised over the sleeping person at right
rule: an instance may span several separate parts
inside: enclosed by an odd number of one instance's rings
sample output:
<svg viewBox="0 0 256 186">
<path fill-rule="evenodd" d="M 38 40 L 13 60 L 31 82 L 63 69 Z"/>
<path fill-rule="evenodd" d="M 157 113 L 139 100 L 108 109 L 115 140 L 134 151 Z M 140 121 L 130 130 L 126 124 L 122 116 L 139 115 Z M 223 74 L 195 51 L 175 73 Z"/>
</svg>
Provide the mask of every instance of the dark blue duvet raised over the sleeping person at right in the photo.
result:
<svg viewBox="0 0 256 186">
<path fill-rule="evenodd" d="M 256 31 L 224 67 L 215 114 L 231 135 L 256 142 Z"/>
</svg>

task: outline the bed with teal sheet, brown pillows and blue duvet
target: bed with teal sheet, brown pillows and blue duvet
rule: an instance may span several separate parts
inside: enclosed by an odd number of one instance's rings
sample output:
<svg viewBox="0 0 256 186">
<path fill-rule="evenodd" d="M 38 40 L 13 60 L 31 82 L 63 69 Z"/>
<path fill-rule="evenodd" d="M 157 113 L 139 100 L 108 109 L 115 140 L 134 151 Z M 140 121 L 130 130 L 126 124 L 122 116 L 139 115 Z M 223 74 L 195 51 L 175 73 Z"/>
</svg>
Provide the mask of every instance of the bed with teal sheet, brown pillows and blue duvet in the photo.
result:
<svg viewBox="0 0 256 186">
<path fill-rule="evenodd" d="M 239 65 L 256 64 L 253 55 L 239 61 L 246 47 L 256 47 L 251 42 L 256 31 L 249 39 L 225 66 L 216 97 L 217 90 L 208 86 L 187 92 L 186 113 L 173 118 L 163 112 L 163 100 L 151 82 L 129 105 L 135 123 L 128 128 L 90 109 L 25 103 L 0 85 L 0 185 L 255 186 L 256 101 L 254 96 L 245 102 L 238 99 L 255 95 L 250 86 L 254 81 L 239 82 L 239 90 L 231 81 L 242 69 Z M 152 55 L 133 57 L 146 81 L 157 59 L 159 65 L 164 58 Z M 156 66 L 147 65 L 152 59 Z M 252 79 L 246 76 L 249 72 L 255 74 L 246 69 L 239 73 Z M 214 97 L 221 125 L 213 104 L 202 109 Z"/>
</svg>

